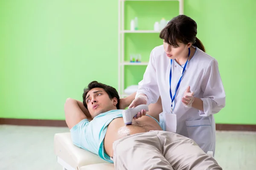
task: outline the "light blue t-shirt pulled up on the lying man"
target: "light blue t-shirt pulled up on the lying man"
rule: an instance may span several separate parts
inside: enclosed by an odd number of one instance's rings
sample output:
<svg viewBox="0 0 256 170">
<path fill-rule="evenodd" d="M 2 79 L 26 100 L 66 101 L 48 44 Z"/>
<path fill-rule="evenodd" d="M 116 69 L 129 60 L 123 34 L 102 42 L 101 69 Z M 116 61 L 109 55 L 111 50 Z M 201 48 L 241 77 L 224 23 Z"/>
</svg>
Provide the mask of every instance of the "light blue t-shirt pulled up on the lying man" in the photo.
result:
<svg viewBox="0 0 256 170">
<path fill-rule="evenodd" d="M 110 157 L 104 152 L 103 142 L 108 125 L 113 119 L 122 117 L 122 111 L 123 110 L 111 110 L 101 113 L 90 122 L 88 119 L 81 120 L 81 122 L 70 129 L 73 144 L 99 155 L 99 157 L 105 161 L 113 163 Z M 158 121 L 157 123 L 159 124 Z"/>
</svg>

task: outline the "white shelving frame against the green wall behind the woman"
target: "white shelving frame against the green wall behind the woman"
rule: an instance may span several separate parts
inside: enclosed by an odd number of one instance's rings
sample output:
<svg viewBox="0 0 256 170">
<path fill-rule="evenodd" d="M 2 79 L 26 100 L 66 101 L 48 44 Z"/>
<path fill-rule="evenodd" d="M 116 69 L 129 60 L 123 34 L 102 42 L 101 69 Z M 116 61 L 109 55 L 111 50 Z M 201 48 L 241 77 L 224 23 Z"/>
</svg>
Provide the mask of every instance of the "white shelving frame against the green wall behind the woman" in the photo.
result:
<svg viewBox="0 0 256 170">
<path fill-rule="evenodd" d="M 125 30 L 125 1 L 178 1 L 179 2 L 179 14 L 183 14 L 183 0 L 118 0 L 118 93 L 120 98 L 128 96 L 124 93 L 124 80 L 125 80 L 125 65 L 148 65 L 148 62 L 129 62 L 125 61 L 125 34 L 136 33 L 160 33 L 160 31 L 154 30 Z"/>
</svg>

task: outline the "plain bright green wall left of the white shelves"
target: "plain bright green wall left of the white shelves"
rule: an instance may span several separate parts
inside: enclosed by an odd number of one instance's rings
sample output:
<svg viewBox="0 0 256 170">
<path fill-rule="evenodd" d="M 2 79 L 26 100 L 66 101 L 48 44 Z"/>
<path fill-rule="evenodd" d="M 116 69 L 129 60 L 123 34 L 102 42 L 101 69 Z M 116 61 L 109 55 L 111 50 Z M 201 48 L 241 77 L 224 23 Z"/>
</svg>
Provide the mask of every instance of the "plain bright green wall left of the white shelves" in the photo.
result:
<svg viewBox="0 0 256 170">
<path fill-rule="evenodd" d="M 1 0 L 1 117 L 64 119 L 65 100 L 81 99 L 90 81 L 116 87 L 117 6 Z"/>
</svg>

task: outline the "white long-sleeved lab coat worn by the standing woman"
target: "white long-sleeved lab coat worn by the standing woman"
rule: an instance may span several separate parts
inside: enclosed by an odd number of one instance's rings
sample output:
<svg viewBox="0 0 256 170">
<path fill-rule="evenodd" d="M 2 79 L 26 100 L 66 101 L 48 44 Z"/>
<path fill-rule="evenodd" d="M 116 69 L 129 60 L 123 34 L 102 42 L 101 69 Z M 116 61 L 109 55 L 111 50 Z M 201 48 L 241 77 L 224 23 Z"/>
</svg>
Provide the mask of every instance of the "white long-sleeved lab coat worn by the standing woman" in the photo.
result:
<svg viewBox="0 0 256 170">
<path fill-rule="evenodd" d="M 195 48 L 195 47 L 192 47 Z M 175 94 L 177 82 L 184 65 L 172 62 L 172 96 Z M 143 80 L 139 82 L 136 96 L 145 94 L 149 103 L 162 99 L 163 113 L 160 114 L 160 125 L 166 130 L 166 114 L 171 112 L 170 76 L 171 62 L 166 56 L 163 45 L 155 47 Z M 190 86 L 194 96 L 202 99 L 204 112 L 195 108 L 186 108 L 181 98 Z M 180 82 L 180 87 L 174 101 L 173 113 L 177 115 L 176 133 L 193 139 L 203 150 L 215 152 L 215 121 L 212 114 L 218 113 L 225 106 L 225 92 L 218 70 L 218 62 L 208 54 L 196 48 L 195 54 L 189 60 L 186 71 Z"/>
</svg>

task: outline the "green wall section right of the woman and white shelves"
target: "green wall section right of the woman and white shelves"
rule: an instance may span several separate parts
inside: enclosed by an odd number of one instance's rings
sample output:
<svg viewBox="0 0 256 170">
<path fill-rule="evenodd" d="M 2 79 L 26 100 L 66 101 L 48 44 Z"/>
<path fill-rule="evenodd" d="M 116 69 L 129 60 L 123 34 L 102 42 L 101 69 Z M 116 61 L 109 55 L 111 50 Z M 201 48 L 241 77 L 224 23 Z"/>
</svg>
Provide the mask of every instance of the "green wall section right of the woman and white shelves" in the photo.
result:
<svg viewBox="0 0 256 170">
<path fill-rule="evenodd" d="M 227 97 L 216 122 L 256 124 L 256 1 L 185 1 L 185 13 L 198 23 L 198 37 L 218 60 Z"/>
</svg>

